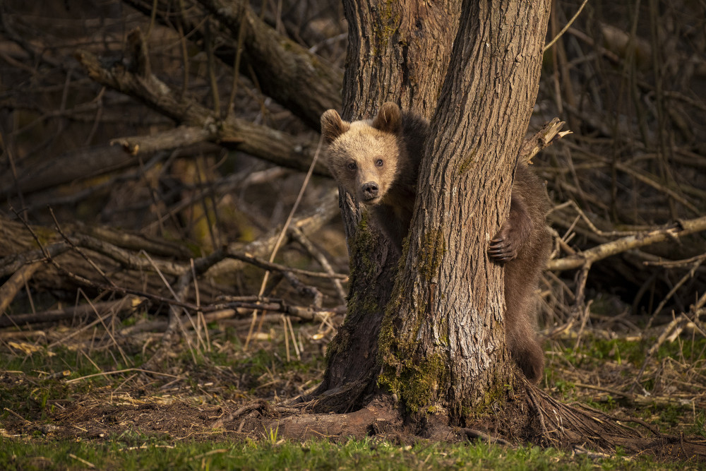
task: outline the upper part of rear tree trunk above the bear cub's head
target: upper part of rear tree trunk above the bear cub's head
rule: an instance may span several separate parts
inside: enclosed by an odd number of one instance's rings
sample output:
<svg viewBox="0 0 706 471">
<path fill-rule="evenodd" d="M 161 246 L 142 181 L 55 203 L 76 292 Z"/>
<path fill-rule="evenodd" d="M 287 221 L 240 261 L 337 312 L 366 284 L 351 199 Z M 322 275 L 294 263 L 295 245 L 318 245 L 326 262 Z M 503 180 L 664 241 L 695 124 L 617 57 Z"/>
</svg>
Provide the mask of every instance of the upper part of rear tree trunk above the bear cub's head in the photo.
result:
<svg viewBox="0 0 706 471">
<path fill-rule="evenodd" d="M 429 119 L 448 66 L 460 0 L 343 5 L 348 20 L 343 118 L 371 117 L 392 101 Z"/>
</svg>

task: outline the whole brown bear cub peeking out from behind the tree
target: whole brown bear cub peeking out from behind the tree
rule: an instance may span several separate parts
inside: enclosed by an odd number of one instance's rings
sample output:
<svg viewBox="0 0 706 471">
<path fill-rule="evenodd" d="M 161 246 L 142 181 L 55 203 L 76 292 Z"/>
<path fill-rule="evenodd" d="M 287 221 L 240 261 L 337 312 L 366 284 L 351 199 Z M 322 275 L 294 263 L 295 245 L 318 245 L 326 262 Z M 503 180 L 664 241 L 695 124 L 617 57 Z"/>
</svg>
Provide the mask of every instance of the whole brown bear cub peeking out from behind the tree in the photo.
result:
<svg viewBox="0 0 706 471">
<path fill-rule="evenodd" d="M 336 181 L 366 205 L 378 227 L 401 251 L 412 220 L 417 173 L 429 122 L 385 103 L 374 119 L 343 121 L 329 109 L 321 115 L 328 167 Z M 530 381 L 544 371 L 544 352 L 534 332 L 534 290 L 549 258 L 551 237 L 544 215 L 549 201 L 542 181 L 520 162 L 515 170 L 510 215 L 493 237 L 488 254 L 505 263 L 505 329 L 513 359 Z"/>
</svg>

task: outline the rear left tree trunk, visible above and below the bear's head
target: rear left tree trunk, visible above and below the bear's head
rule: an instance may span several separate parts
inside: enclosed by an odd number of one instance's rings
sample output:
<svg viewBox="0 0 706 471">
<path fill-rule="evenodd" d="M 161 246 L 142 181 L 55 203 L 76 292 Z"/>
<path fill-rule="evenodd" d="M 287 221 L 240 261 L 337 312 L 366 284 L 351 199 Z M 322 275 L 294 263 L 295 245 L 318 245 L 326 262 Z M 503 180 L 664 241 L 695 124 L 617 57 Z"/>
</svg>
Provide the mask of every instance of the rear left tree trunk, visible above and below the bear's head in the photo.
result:
<svg viewBox="0 0 706 471">
<path fill-rule="evenodd" d="M 371 117 L 385 101 L 433 113 L 441 90 L 460 1 L 344 1 L 349 47 L 344 79 L 345 119 Z M 376 390 L 378 333 L 393 291 L 395 249 L 352 198 L 341 191 L 351 282 L 344 325 L 331 342 L 318 410 L 343 412 Z M 323 395 L 322 395 L 323 394 Z"/>
</svg>

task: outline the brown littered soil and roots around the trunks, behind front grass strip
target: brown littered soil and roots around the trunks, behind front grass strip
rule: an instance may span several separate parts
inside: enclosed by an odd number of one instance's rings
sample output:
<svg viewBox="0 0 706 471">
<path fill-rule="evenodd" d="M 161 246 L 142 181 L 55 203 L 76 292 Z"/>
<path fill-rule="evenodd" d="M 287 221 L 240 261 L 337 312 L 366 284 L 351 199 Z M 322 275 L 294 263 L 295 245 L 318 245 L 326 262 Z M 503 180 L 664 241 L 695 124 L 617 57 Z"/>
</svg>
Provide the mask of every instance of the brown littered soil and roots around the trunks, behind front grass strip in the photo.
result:
<svg viewBox="0 0 706 471">
<path fill-rule="evenodd" d="M 650 453 L 657 458 L 697 460 L 706 456 L 706 440 L 695 435 L 699 420 L 703 420 L 701 411 L 706 407 L 706 398 L 698 383 L 690 382 L 702 375 L 702 359 L 681 364 L 666 357 L 648 360 L 644 368 L 610 358 L 570 363 L 561 352 L 561 345 L 566 342 L 555 338 L 549 342 L 549 376 L 539 390 L 527 385 L 531 398 L 515 395 L 491 416 L 465 424 L 466 427 L 450 427 L 441 418 L 443 415 L 436 416 L 438 422 L 431 416 L 421 424 L 403 418 L 397 403 L 387 395 L 378 395 L 361 410 L 345 414 L 316 414 L 311 412 L 313 403 L 296 403 L 294 399 L 316 386 L 317 378 L 323 374 L 321 349 L 327 340 L 326 336 L 314 340 L 316 326 L 304 324 L 297 330 L 309 340 L 303 342 L 301 360 L 295 360 L 291 352 L 289 362 L 286 352 L 282 357 L 280 325 L 270 326 L 270 341 L 253 342 L 247 352 L 225 342 L 224 347 L 224 339 L 213 330 L 212 342 L 221 345 L 229 362 L 243 362 L 239 367 L 211 361 L 195 366 L 172 352 L 172 367 L 164 370 L 169 371 L 169 376 L 126 369 L 114 375 L 66 383 L 64 378 L 45 379 L 47 371 L 1 371 L 0 387 L 6 393 L 28 391 L 30 395 L 24 405 L 16 401 L 8 407 L 4 401 L 3 433 L 40 440 L 101 441 L 137 434 L 201 441 L 258 440 L 276 431 L 278 437 L 295 441 L 337 441 L 351 436 L 377 436 L 404 444 L 481 439 L 509 446 L 529 442 L 568 449 L 589 443 L 588 448 L 601 451 L 614 450 L 617 443 L 636 455 Z M 596 331 L 599 333 L 599 329 Z M 122 346 L 126 352 L 134 347 L 131 342 Z M 599 350 L 600 346 L 594 349 Z M 18 355 L 18 350 L 11 347 L 6 354 Z M 259 357 L 265 359 L 260 366 L 254 362 Z M 640 369 L 642 380 L 654 385 L 649 397 L 631 391 L 630 379 L 636 378 Z M 54 396 L 59 397 L 47 399 L 41 407 L 36 391 L 45 388 L 54 390 Z M 543 413 L 538 413 L 540 410 Z M 573 425 L 582 424 L 587 434 L 589 429 L 602 430 L 601 439 L 587 441 L 581 434 L 552 433 L 555 424 L 551 420 L 558 415 L 563 416 L 566 429 L 574 420 Z M 600 417 L 604 423 L 587 417 Z M 606 427 L 613 427 L 612 434 Z"/>
</svg>

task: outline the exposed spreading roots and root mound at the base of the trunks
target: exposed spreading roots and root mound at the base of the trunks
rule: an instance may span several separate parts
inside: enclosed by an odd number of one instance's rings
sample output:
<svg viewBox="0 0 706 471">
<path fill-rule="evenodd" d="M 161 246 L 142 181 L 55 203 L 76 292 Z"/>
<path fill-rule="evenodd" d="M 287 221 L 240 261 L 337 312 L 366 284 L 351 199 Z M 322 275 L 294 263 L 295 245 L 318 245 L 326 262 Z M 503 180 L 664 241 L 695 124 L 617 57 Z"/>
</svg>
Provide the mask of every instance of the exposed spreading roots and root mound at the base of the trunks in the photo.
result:
<svg viewBox="0 0 706 471">
<path fill-rule="evenodd" d="M 238 431 L 249 422 L 246 431 L 277 429 L 278 436 L 297 441 L 363 439 L 366 436 L 378 436 L 397 443 L 414 443 L 419 439 L 452 442 L 481 439 L 503 446 L 534 443 L 606 457 L 622 448 L 628 453 L 649 453 L 662 459 L 706 460 L 703 440 L 661 434 L 640 419 L 626 419 L 625 422 L 635 422 L 648 429 L 651 436 L 646 437 L 638 429 L 627 427 L 603 412 L 560 403 L 524 377 L 517 381 L 515 395 L 502 411 L 467 423 L 467 427 L 449 425 L 448 417 L 443 414 L 427 416 L 422 423 L 414 423 L 403 416 L 396 401 L 386 394 L 378 394 L 364 407 L 343 414 L 307 412 L 320 410 L 318 399 L 296 406 L 272 406 L 259 400 L 219 419 L 214 426 L 225 427 L 228 422 L 246 416 Z M 342 391 L 336 390 L 330 395 L 342 399 L 340 393 Z M 253 411 L 264 417 L 249 420 L 255 418 Z M 508 420 L 508 417 L 514 419 Z"/>
</svg>

